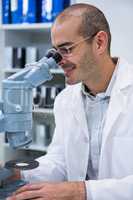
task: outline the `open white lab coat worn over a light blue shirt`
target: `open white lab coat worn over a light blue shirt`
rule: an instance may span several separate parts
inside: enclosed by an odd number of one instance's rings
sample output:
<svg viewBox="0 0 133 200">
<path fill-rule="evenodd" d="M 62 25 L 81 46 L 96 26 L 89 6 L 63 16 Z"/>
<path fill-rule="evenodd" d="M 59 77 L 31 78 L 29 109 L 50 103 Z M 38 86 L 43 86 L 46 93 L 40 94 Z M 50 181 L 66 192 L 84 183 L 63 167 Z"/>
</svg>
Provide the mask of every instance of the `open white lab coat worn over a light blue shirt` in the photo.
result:
<svg viewBox="0 0 133 200">
<path fill-rule="evenodd" d="M 56 130 L 30 181 L 85 180 L 89 134 L 81 85 L 68 86 L 55 101 Z M 87 199 L 133 200 L 133 66 L 120 59 L 102 135 L 98 180 L 86 181 Z"/>
</svg>

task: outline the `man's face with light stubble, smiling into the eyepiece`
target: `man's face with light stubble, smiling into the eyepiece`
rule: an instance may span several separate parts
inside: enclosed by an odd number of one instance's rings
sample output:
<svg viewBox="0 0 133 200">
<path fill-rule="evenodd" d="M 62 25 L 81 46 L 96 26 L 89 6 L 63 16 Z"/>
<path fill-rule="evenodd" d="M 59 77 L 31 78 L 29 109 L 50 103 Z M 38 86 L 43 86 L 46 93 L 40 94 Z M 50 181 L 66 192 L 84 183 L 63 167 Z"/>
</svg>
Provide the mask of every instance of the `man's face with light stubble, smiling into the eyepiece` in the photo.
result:
<svg viewBox="0 0 133 200">
<path fill-rule="evenodd" d="M 67 83 L 75 84 L 82 81 L 88 85 L 89 82 L 96 81 L 99 72 L 95 62 L 93 43 L 83 41 L 84 37 L 78 32 L 80 23 L 79 17 L 71 17 L 70 20 L 61 23 L 56 21 L 52 27 L 51 38 L 53 46 L 59 52 L 63 52 L 64 47 L 72 46 L 70 52 L 64 54 L 60 63 Z"/>
</svg>

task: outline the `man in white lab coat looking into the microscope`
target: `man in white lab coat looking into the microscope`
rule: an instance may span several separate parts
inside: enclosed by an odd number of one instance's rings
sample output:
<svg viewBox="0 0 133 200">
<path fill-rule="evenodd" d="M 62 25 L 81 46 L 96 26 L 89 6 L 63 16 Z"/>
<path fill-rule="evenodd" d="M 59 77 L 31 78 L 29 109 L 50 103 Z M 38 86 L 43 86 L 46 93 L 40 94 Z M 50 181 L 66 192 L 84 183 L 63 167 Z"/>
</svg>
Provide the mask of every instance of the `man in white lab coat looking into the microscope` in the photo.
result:
<svg viewBox="0 0 133 200">
<path fill-rule="evenodd" d="M 111 57 L 109 25 L 94 6 L 64 10 L 51 38 L 69 86 L 55 101 L 48 154 L 10 200 L 133 199 L 133 66 Z"/>
</svg>

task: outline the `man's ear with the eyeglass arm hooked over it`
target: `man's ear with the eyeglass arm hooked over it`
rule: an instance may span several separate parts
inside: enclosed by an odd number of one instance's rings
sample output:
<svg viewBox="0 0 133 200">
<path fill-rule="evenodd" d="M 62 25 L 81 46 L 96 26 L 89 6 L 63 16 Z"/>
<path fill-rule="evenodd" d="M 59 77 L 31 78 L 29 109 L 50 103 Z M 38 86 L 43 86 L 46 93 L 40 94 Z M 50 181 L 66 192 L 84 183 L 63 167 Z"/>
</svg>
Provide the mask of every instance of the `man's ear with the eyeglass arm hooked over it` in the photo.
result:
<svg viewBox="0 0 133 200">
<path fill-rule="evenodd" d="M 95 50 L 98 55 L 103 54 L 107 50 L 108 35 L 105 31 L 99 31 L 95 36 Z"/>
</svg>

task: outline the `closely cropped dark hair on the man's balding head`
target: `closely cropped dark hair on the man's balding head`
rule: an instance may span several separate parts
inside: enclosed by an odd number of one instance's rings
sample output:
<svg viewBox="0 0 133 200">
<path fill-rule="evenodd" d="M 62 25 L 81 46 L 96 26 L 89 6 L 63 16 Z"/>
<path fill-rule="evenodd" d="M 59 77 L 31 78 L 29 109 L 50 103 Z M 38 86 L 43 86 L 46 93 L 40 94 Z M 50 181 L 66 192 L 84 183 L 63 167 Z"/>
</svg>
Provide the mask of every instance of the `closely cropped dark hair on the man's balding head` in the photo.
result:
<svg viewBox="0 0 133 200">
<path fill-rule="evenodd" d="M 82 17 L 81 26 L 79 28 L 79 33 L 83 37 L 91 36 L 97 33 L 98 31 L 105 31 L 108 35 L 108 52 L 110 54 L 111 46 L 111 33 L 108 21 L 101 10 L 97 7 L 85 4 L 78 3 L 73 4 L 66 8 L 62 13 L 57 17 L 57 20 L 60 18 L 62 21 L 65 19 L 70 19 L 70 16 L 75 16 L 74 11 L 79 11 L 79 17 Z"/>
</svg>

